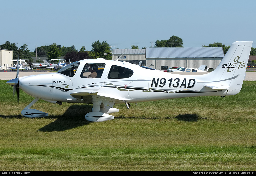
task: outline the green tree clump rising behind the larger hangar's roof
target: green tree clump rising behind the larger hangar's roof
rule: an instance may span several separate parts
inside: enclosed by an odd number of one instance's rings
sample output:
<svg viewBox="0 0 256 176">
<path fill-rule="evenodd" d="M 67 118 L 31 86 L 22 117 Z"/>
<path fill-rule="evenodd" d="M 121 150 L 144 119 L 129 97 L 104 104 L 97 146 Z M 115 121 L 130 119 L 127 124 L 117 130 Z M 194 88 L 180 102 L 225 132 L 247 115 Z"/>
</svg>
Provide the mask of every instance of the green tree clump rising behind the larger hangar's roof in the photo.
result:
<svg viewBox="0 0 256 176">
<path fill-rule="evenodd" d="M 183 40 L 180 37 L 172 36 L 169 40 L 157 40 L 156 46 L 158 48 L 182 48 Z"/>
</svg>

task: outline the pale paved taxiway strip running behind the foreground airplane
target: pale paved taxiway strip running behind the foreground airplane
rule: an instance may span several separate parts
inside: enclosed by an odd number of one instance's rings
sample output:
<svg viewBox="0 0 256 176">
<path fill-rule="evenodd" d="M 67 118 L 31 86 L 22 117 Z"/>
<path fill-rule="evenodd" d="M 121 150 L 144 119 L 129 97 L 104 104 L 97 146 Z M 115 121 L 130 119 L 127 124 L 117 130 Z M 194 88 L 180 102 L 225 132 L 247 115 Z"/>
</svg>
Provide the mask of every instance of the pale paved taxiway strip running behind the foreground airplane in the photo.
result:
<svg viewBox="0 0 256 176">
<path fill-rule="evenodd" d="M 50 71 L 19 71 L 19 77 L 36 75 L 36 74 L 47 74 L 47 73 L 56 73 Z M 0 80 L 11 80 L 16 78 L 16 71 L 0 72 Z M 246 81 L 256 81 L 256 72 L 246 72 Z"/>
</svg>

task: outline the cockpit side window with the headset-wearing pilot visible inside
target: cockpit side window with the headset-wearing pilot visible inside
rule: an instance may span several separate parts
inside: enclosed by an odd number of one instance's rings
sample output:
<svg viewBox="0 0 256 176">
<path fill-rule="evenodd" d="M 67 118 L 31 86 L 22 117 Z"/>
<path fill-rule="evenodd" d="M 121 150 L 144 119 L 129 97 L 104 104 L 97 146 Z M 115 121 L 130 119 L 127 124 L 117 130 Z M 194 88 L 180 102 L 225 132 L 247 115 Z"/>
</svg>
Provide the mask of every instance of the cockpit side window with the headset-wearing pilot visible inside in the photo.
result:
<svg viewBox="0 0 256 176">
<path fill-rule="evenodd" d="M 81 78 L 101 78 L 105 63 L 87 63 L 80 75 Z"/>
</svg>

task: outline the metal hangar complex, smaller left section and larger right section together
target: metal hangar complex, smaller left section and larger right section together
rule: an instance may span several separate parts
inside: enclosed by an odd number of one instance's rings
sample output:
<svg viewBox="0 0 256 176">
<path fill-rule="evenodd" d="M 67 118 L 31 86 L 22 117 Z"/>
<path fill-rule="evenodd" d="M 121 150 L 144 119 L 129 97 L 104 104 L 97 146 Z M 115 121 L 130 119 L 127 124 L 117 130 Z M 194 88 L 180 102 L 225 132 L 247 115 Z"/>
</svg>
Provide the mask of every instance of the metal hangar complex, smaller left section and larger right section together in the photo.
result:
<svg viewBox="0 0 256 176">
<path fill-rule="evenodd" d="M 124 51 L 125 49 L 113 50 L 113 60 L 121 56 Z M 146 67 L 157 70 L 167 70 L 170 67 L 199 68 L 203 64 L 208 68 L 216 69 L 223 57 L 222 48 L 146 48 L 127 50 L 119 60 L 130 63 L 142 61 Z"/>
</svg>

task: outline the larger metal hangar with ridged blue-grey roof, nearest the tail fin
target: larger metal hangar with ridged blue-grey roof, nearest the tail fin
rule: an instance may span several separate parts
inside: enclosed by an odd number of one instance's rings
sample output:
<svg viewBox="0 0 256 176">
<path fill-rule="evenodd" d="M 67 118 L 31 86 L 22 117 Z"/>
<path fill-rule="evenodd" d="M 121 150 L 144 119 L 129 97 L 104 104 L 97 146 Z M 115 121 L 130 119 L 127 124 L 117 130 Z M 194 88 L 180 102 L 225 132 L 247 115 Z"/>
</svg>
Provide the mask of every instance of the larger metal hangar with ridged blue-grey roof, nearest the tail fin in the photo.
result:
<svg viewBox="0 0 256 176">
<path fill-rule="evenodd" d="M 222 48 L 146 48 L 146 67 L 167 70 L 171 67 L 214 68 L 220 64 Z"/>
</svg>

